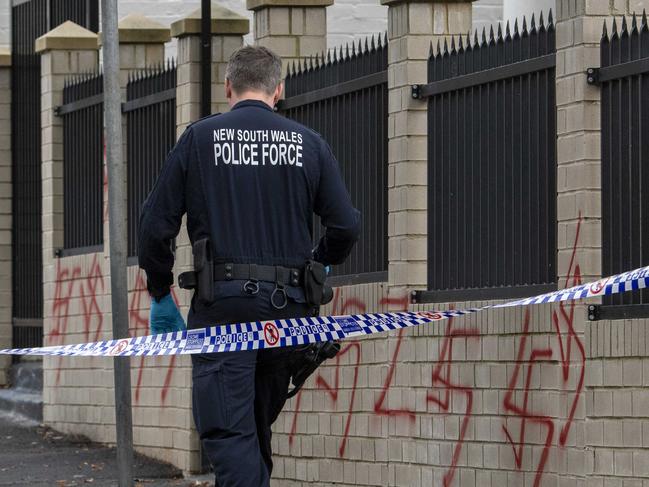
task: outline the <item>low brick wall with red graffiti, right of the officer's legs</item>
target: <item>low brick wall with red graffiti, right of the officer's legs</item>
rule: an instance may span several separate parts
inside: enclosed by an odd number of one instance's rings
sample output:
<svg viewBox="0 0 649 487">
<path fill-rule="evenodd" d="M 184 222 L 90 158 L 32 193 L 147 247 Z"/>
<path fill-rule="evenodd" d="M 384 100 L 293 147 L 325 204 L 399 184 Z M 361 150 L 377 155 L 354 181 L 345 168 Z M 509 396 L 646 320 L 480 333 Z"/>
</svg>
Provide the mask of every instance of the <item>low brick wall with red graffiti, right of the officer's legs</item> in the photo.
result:
<svg viewBox="0 0 649 487">
<path fill-rule="evenodd" d="M 334 307 L 405 304 L 386 296 L 386 285 L 344 288 Z M 579 485 L 588 406 L 572 326 L 539 306 L 345 342 L 277 423 L 274 485 Z"/>
</svg>

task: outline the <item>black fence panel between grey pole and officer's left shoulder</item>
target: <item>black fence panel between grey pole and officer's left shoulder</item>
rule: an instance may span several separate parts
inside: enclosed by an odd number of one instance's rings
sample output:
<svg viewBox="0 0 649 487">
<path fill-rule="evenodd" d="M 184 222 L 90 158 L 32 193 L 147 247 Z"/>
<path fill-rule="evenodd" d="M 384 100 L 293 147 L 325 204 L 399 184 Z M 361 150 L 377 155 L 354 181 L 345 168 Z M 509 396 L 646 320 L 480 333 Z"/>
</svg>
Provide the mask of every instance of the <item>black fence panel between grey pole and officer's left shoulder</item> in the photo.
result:
<svg viewBox="0 0 649 487">
<path fill-rule="evenodd" d="M 137 253 L 137 223 L 169 151 L 176 143 L 176 66 L 129 80 L 127 102 L 128 255 Z"/>
</svg>

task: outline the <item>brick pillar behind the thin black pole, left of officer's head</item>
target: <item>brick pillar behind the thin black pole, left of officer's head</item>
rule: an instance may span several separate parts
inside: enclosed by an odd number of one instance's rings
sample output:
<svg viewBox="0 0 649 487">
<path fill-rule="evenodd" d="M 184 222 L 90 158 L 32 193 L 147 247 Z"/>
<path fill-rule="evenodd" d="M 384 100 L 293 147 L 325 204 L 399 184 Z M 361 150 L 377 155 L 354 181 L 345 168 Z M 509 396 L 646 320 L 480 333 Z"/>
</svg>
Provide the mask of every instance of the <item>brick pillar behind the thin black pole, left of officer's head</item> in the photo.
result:
<svg viewBox="0 0 649 487">
<path fill-rule="evenodd" d="M 243 45 L 250 32 L 245 17 L 212 3 L 212 113 L 229 110 L 225 98 L 225 67 L 230 55 Z M 178 135 L 200 118 L 201 103 L 201 11 L 171 24 L 171 35 L 178 38 L 178 86 L 176 124 Z"/>
</svg>

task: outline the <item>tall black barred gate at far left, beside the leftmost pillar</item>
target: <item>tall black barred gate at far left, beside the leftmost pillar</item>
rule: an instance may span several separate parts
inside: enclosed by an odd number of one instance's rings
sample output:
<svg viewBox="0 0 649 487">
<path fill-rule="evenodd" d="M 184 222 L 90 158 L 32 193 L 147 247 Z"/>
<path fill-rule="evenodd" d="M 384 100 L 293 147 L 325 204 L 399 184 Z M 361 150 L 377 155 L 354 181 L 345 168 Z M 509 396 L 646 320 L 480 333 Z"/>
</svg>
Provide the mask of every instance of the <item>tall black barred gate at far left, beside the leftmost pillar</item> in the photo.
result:
<svg viewBox="0 0 649 487">
<path fill-rule="evenodd" d="M 98 0 L 13 0 L 13 345 L 42 343 L 41 78 L 34 41 L 65 20 L 97 31 Z"/>
</svg>

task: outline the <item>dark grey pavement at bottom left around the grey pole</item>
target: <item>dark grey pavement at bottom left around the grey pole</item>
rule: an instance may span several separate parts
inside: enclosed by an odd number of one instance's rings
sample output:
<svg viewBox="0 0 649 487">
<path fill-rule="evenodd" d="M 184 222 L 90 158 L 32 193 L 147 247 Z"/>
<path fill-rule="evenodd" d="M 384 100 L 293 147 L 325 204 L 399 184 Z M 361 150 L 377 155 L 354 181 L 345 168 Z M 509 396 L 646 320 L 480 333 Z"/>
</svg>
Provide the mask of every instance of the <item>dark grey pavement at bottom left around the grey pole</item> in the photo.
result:
<svg viewBox="0 0 649 487">
<path fill-rule="evenodd" d="M 0 486 L 115 486 L 115 449 L 66 436 L 18 415 L 0 414 Z M 211 487 L 175 467 L 137 455 L 137 487 Z"/>
</svg>

